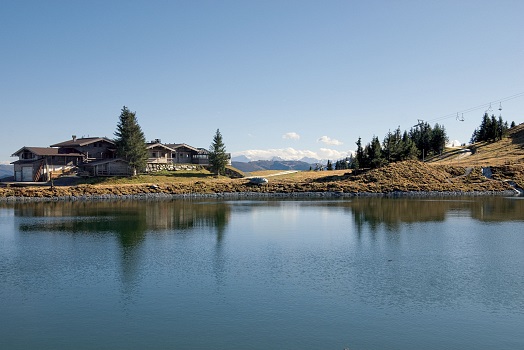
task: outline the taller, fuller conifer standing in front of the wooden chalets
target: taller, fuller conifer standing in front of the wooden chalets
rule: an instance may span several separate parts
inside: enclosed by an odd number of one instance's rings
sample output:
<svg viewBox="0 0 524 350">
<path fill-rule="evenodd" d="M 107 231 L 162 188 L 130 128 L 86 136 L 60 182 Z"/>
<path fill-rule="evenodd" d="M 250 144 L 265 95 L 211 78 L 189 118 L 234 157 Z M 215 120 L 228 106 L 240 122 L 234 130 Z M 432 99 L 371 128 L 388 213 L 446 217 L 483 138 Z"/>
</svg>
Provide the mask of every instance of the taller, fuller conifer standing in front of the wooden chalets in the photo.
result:
<svg viewBox="0 0 524 350">
<path fill-rule="evenodd" d="M 117 156 L 128 161 L 133 175 L 144 171 L 147 164 L 146 139 L 138 125 L 136 113 L 126 106 L 122 107 L 115 136 Z"/>
</svg>

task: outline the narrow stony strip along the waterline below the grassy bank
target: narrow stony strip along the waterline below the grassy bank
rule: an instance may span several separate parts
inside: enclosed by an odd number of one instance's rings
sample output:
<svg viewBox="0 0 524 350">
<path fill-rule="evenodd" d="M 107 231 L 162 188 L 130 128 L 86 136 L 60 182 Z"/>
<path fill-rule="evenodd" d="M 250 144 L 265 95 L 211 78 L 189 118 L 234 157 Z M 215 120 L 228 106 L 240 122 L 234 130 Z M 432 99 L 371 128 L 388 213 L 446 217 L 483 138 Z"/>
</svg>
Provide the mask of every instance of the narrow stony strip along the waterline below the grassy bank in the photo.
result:
<svg viewBox="0 0 524 350">
<path fill-rule="evenodd" d="M 338 199 L 358 197 L 482 197 L 504 196 L 512 197 L 518 194 L 512 190 L 505 191 L 392 191 L 383 193 L 374 192 L 223 192 L 223 193 L 135 193 L 135 194 L 93 194 L 81 196 L 55 196 L 55 197 L 0 197 L 0 203 L 25 203 L 25 202 L 76 202 L 76 201 L 157 201 L 175 199 Z"/>
</svg>

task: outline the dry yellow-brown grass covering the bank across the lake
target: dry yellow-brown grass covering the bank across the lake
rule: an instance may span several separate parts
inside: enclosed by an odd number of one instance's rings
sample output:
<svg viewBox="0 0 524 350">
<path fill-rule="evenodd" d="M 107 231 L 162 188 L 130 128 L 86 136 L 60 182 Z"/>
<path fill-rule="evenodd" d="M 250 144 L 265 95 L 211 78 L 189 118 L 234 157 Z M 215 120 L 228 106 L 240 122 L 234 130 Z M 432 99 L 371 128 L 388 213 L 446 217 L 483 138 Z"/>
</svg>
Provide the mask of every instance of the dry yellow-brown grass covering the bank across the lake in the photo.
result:
<svg viewBox="0 0 524 350">
<path fill-rule="evenodd" d="M 54 187 L 53 189 L 49 187 L 1 188 L 0 196 L 78 197 L 102 194 L 211 194 L 224 192 L 504 191 L 510 189 L 510 186 L 500 180 L 505 180 L 508 176 L 514 180 L 524 179 L 524 168 L 513 167 L 511 172 L 496 170 L 494 174 L 496 180 L 490 180 L 482 176 L 479 167 L 468 172 L 466 167 L 461 166 L 408 161 L 360 172 L 347 170 L 306 171 L 272 176 L 269 178 L 269 183 L 263 186 L 251 185 L 247 179 L 216 178 L 211 174 L 202 173 L 191 176 L 188 173 L 184 176 L 161 175 L 138 177 L 131 180 L 111 179 L 99 184 Z M 138 183 L 129 183 L 129 181 Z M 522 182 L 519 184 L 524 185 Z"/>
</svg>

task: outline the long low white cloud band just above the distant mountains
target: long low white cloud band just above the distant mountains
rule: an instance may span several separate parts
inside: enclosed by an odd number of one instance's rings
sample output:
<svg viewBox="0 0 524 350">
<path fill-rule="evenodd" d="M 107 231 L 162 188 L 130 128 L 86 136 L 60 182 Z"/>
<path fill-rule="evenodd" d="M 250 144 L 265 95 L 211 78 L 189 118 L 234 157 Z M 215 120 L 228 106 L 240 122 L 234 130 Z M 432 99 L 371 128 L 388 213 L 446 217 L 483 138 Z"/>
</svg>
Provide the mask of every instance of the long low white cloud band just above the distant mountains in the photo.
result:
<svg viewBox="0 0 524 350">
<path fill-rule="evenodd" d="M 271 160 L 275 157 L 284 160 L 301 160 L 303 158 L 316 160 L 338 160 L 348 157 L 353 151 L 337 151 L 329 148 L 320 148 L 317 152 L 310 150 L 298 150 L 291 147 L 266 150 L 246 150 L 233 152 L 232 157 L 245 156 L 249 160 Z"/>
</svg>

